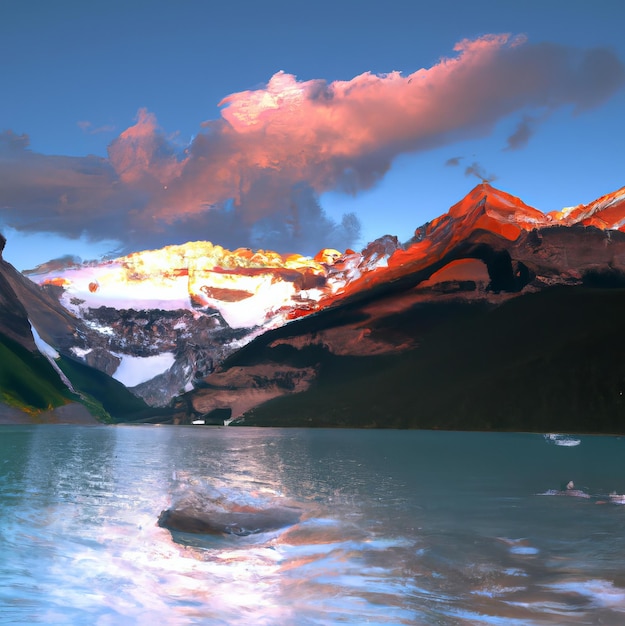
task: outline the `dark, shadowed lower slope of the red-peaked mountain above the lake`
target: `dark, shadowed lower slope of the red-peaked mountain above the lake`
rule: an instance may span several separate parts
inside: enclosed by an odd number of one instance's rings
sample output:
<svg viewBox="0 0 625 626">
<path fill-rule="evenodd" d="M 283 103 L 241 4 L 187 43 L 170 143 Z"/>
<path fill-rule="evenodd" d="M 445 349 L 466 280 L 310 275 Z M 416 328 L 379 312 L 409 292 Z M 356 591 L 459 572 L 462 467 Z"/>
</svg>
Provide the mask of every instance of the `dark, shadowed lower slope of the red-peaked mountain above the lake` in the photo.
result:
<svg viewBox="0 0 625 626">
<path fill-rule="evenodd" d="M 553 288 L 491 310 L 450 303 L 444 318 L 428 308 L 414 311 L 415 325 L 424 314 L 438 320 L 418 348 L 315 355 L 307 391 L 252 409 L 244 423 L 625 432 L 624 290 Z M 289 355 L 269 348 L 268 358 Z"/>
</svg>

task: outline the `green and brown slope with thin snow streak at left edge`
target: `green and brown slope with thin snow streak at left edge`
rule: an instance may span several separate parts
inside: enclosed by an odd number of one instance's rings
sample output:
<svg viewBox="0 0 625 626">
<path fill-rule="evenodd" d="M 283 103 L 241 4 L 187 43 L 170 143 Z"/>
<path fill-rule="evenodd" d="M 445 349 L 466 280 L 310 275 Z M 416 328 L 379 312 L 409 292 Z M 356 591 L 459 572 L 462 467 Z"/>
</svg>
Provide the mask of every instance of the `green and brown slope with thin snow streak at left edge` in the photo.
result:
<svg viewBox="0 0 625 626">
<path fill-rule="evenodd" d="M 97 345 L 97 334 L 7 263 L 5 243 L 0 235 L 0 423 L 153 415 L 123 385 L 76 360 L 72 349 Z"/>
</svg>

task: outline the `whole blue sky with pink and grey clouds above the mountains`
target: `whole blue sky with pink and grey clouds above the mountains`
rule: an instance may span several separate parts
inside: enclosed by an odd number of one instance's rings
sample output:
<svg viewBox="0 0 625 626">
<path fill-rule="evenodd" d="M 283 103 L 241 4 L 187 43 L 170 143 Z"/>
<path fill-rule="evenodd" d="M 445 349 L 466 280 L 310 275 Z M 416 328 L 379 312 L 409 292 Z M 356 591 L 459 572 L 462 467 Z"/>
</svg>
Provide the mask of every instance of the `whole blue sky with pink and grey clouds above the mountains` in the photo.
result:
<svg viewBox="0 0 625 626">
<path fill-rule="evenodd" d="M 0 0 L 18 269 L 186 241 L 407 241 L 482 180 L 625 185 L 621 0 Z"/>
</svg>

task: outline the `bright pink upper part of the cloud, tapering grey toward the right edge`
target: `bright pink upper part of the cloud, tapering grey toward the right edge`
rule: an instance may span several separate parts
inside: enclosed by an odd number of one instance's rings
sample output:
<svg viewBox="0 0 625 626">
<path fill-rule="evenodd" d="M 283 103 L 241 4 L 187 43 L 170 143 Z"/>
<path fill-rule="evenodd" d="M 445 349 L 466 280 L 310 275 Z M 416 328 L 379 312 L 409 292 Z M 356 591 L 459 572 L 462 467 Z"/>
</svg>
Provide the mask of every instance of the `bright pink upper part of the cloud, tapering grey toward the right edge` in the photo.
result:
<svg viewBox="0 0 625 626">
<path fill-rule="evenodd" d="M 185 159 L 180 184 L 153 208 L 179 219 L 227 197 L 255 219 L 272 213 L 293 183 L 356 192 L 374 185 L 399 154 L 484 135 L 517 111 L 595 106 L 625 76 L 610 54 L 598 81 L 596 51 L 508 35 L 463 40 L 455 51 L 408 76 L 365 73 L 326 83 L 278 72 L 263 89 L 227 96 L 222 120 L 205 124 L 208 133 Z"/>
</svg>

